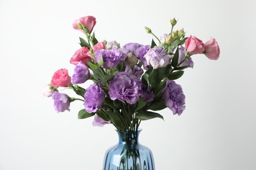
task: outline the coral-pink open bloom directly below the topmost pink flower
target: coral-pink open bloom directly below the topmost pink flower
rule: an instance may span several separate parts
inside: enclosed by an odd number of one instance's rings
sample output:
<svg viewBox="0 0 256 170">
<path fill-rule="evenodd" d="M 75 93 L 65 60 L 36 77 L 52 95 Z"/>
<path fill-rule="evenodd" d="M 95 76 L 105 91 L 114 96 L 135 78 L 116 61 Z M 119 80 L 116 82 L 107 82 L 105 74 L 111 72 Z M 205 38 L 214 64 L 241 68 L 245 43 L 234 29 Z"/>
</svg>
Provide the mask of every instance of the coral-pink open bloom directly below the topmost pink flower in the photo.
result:
<svg viewBox="0 0 256 170">
<path fill-rule="evenodd" d="M 87 63 L 88 61 L 91 61 L 91 56 L 90 56 L 90 50 L 83 46 L 79 50 L 75 52 L 75 54 L 72 56 L 70 59 L 70 63 L 77 65 L 79 61 L 82 61 L 83 63 Z"/>
</svg>

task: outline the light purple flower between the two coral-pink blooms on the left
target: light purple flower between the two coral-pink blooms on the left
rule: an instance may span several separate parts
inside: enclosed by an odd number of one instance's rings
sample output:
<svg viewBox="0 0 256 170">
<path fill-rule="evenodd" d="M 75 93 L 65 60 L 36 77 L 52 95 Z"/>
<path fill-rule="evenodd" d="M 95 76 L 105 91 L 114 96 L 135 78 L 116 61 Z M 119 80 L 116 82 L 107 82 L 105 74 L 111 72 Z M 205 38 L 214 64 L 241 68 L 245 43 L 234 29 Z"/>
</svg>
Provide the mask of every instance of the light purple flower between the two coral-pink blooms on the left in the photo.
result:
<svg viewBox="0 0 256 170">
<path fill-rule="evenodd" d="M 72 84 L 84 83 L 86 80 L 88 80 L 89 76 L 89 68 L 83 62 L 79 61 L 79 63 L 75 65 L 74 75 L 72 76 Z"/>
</svg>

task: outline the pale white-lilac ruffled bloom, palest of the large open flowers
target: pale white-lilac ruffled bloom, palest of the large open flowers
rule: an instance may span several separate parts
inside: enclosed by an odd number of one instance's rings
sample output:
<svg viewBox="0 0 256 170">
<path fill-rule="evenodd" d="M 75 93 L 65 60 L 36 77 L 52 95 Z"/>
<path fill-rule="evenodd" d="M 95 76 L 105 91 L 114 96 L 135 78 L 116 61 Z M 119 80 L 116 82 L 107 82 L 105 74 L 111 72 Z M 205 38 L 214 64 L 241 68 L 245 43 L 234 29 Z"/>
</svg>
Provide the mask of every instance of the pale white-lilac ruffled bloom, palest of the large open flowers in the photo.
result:
<svg viewBox="0 0 256 170">
<path fill-rule="evenodd" d="M 152 65 L 153 69 L 158 69 L 158 67 L 166 67 L 170 63 L 171 56 L 165 52 L 163 47 L 155 46 L 148 50 L 144 58 L 147 65 Z"/>
</svg>

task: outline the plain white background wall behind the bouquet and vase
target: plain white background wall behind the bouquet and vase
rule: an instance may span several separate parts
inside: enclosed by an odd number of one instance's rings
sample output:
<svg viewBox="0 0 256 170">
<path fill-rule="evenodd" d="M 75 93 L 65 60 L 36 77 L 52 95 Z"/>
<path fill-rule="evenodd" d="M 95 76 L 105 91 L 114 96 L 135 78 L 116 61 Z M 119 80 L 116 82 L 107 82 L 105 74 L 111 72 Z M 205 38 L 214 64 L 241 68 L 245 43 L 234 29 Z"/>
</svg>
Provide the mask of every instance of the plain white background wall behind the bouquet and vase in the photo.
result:
<svg viewBox="0 0 256 170">
<path fill-rule="evenodd" d="M 79 101 L 57 114 L 42 95 L 54 71 L 72 75 L 69 60 L 84 37 L 72 23 L 93 15 L 99 41 L 150 44 L 144 26 L 160 37 L 173 17 L 186 35 L 217 39 L 219 60 L 193 56 L 194 69 L 177 80 L 186 110 L 142 122 L 140 143 L 157 170 L 255 170 L 255 7 L 253 0 L 0 0 L 0 169 L 102 169 L 104 152 L 117 143 L 114 127 L 77 120 Z"/>
</svg>

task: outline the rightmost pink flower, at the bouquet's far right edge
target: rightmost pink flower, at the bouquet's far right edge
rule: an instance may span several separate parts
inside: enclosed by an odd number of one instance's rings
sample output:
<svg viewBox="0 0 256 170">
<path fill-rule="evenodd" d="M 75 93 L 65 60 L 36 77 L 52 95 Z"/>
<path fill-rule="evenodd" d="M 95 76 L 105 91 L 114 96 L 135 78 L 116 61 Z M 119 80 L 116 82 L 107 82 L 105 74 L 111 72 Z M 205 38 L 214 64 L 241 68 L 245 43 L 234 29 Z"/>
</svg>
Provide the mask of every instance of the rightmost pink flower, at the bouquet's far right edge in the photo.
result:
<svg viewBox="0 0 256 170">
<path fill-rule="evenodd" d="M 205 42 L 205 56 L 209 59 L 217 60 L 219 58 L 220 49 L 218 42 L 211 37 L 209 41 Z"/>
</svg>

